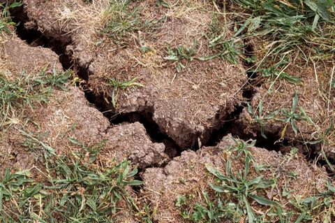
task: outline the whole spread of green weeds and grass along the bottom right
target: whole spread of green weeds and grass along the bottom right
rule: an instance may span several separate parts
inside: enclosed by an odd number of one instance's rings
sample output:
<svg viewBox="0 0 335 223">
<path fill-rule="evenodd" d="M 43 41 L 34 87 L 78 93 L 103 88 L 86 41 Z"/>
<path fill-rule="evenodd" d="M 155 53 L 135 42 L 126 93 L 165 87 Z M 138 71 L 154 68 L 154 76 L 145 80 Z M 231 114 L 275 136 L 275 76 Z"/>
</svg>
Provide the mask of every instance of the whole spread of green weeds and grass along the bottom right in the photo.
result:
<svg viewBox="0 0 335 223">
<path fill-rule="evenodd" d="M 177 197 L 175 206 L 180 208 L 181 217 L 191 222 L 332 222 L 335 217 L 335 187 L 331 182 L 325 185 L 324 192 L 319 192 L 310 197 L 293 196 L 285 185 L 278 187 L 276 180 L 279 178 L 291 178 L 296 180 L 296 176 L 290 172 L 283 171 L 278 175 L 271 168 L 267 168 L 267 173 L 275 176 L 273 180 L 258 177 L 251 177 L 253 173 L 263 171 L 256 168 L 253 163 L 253 156 L 250 148 L 254 142 L 243 142 L 235 140 L 236 145 L 226 148 L 228 158 L 225 164 L 225 173 L 207 165 L 207 171 L 214 175 L 214 180 L 209 183 L 211 190 L 198 194 L 184 194 Z M 243 145 L 244 143 L 244 145 Z M 290 154 L 285 155 L 285 159 L 297 159 L 297 148 L 292 148 Z M 244 160 L 244 165 L 239 166 L 233 161 Z M 282 166 L 280 166 L 281 168 Z M 266 173 L 266 174 L 267 174 Z M 268 175 L 268 174 L 267 174 Z M 290 183 L 290 181 L 285 183 Z M 280 196 L 283 202 L 278 203 L 267 199 L 263 194 L 273 189 L 281 189 Z M 263 208 L 267 208 L 265 211 Z"/>
</svg>

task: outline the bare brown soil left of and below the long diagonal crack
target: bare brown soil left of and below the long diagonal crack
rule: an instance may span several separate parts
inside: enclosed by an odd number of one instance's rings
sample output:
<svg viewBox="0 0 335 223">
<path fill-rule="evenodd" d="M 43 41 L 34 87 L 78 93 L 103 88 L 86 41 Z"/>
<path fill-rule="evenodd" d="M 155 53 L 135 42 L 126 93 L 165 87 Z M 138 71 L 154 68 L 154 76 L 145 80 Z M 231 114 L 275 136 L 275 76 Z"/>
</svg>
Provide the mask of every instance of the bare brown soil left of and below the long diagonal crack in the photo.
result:
<svg viewBox="0 0 335 223">
<path fill-rule="evenodd" d="M 1 52 L 1 70 L 6 71 L 8 78 L 20 76 L 22 71 L 31 76 L 43 69 L 62 72 L 54 52 L 47 48 L 29 47 L 15 36 L 6 38 Z M 9 166 L 29 168 L 34 165 L 38 153 L 34 148 L 23 146 L 33 137 L 40 142 L 47 141 L 45 143 L 55 148 L 58 154 L 77 150 L 77 145 L 69 143 L 69 137 L 85 145 L 104 141 L 102 153 L 106 162 L 107 159 L 110 162 L 112 159 L 132 159 L 145 167 L 162 164 L 168 159 L 163 143 L 152 143 L 142 124 L 110 126 L 107 118 L 90 106 L 84 93 L 76 87 L 68 86 L 66 91 L 54 89 L 47 103 L 34 103 L 32 106 L 18 108 L 17 111 L 23 109 L 22 114 L 1 132 L 1 169 Z"/>
</svg>

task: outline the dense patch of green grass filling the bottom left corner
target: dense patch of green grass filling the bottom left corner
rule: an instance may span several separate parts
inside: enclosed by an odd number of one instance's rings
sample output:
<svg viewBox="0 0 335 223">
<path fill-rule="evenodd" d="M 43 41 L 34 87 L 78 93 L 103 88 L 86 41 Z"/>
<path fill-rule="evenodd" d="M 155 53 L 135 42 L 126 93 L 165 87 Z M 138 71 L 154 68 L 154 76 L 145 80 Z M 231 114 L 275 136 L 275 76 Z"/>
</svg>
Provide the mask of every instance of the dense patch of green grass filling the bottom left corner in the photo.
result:
<svg viewBox="0 0 335 223">
<path fill-rule="evenodd" d="M 1 222 L 114 222 L 121 201 L 129 210 L 137 208 L 127 189 L 142 184 L 133 180 L 137 169 L 128 161 L 100 166 L 96 157 L 103 143 L 87 146 L 70 138 L 81 150 L 57 155 L 36 141 L 45 157 L 45 171 L 34 172 L 44 178 L 37 180 L 32 170 L 6 170 L 0 180 Z"/>
</svg>

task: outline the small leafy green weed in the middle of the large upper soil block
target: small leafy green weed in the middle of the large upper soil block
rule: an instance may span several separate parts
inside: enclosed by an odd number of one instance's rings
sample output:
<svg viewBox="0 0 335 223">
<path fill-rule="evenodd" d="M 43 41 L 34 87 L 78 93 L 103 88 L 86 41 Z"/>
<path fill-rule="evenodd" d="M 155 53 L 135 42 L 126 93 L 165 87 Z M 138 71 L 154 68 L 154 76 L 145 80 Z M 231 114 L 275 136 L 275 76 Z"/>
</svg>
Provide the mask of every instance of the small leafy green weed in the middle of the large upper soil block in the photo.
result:
<svg viewBox="0 0 335 223">
<path fill-rule="evenodd" d="M 183 61 L 192 62 L 195 55 L 195 51 L 192 48 L 188 48 L 184 45 L 179 45 L 175 50 L 171 47 L 168 47 L 168 56 L 164 57 L 164 59 L 172 62 L 176 62 L 177 72 L 180 73 L 185 69 L 185 65 Z"/>
</svg>

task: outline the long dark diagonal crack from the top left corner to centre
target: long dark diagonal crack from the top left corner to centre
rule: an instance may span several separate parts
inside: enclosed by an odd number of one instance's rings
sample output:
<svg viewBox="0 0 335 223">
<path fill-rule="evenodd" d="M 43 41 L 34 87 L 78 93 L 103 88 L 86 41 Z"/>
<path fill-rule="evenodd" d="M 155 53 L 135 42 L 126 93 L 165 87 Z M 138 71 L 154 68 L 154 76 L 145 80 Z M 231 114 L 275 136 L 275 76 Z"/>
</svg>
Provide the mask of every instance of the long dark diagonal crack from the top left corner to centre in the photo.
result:
<svg viewBox="0 0 335 223">
<path fill-rule="evenodd" d="M 85 80 L 85 83 L 78 84 L 78 87 L 84 92 L 87 101 L 110 120 L 111 125 L 121 124 L 123 122 L 140 122 L 146 129 L 147 134 L 153 143 L 163 143 L 165 145 L 165 153 L 168 154 L 170 159 L 180 155 L 182 151 L 181 148 L 179 148 L 177 143 L 175 143 L 168 135 L 160 130 L 158 124 L 152 119 L 152 111 L 150 109 L 134 113 L 113 113 L 112 110 L 106 108 L 104 96 L 100 94 L 97 96 L 89 89 L 88 68 L 77 66 L 71 58 L 71 55 L 66 53 L 67 46 L 72 43 L 70 36 L 64 35 L 64 38 L 59 40 L 50 36 L 45 36 L 42 31 L 38 30 L 38 27 L 30 27 L 30 29 L 27 29 L 27 26 L 24 24 L 29 19 L 24 13 L 23 6 L 15 8 L 12 10 L 11 14 L 13 15 L 13 22 L 18 24 L 15 31 L 19 38 L 33 47 L 40 46 L 43 48 L 50 48 L 50 50 L 59 55 L 59 62 L 64 70 L 71 69 L 77 77 Z"/>
</svg>

